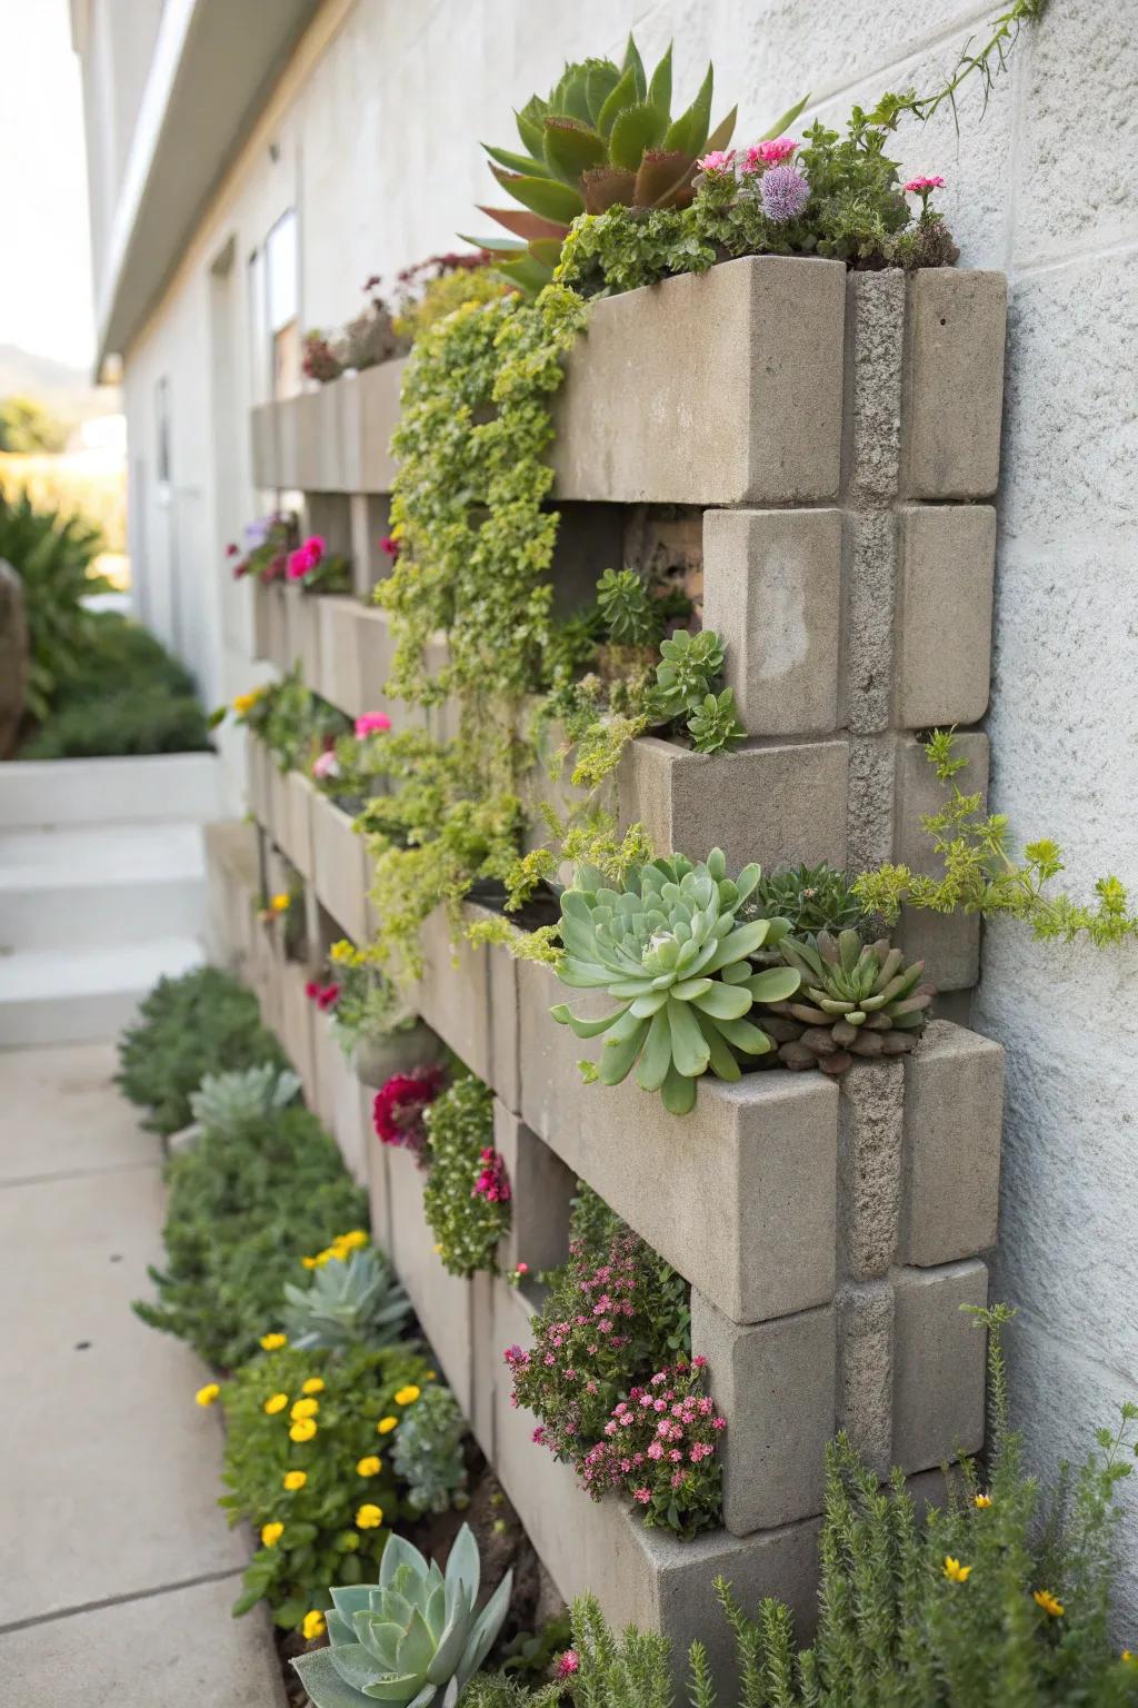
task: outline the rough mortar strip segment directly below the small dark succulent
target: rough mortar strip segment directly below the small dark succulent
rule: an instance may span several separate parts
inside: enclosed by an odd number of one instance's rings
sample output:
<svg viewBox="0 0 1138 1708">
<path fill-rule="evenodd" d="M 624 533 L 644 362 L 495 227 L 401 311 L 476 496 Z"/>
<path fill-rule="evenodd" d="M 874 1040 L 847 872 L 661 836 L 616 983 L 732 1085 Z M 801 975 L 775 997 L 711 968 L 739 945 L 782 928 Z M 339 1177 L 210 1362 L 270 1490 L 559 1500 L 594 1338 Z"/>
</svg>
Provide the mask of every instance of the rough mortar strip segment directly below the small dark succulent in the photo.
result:
<svg viewBox="0 0 1138 1708">
<path fill-rule="evenodd" d="M 855 1062 L 839 1085 L 838 1267 L 868 1281 L 896 1261 L 904 1071 L 899 1061 Z"/>
</svg>

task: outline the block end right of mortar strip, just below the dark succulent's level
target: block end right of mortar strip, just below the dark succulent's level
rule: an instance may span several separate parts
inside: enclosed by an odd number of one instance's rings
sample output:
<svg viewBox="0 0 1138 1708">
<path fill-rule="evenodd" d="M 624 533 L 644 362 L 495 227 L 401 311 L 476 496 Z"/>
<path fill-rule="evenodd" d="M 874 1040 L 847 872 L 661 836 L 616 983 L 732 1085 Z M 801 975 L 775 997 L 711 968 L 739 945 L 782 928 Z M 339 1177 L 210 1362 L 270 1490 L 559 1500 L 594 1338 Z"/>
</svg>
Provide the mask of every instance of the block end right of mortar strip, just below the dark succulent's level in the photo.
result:
<svg viewBox="0 0 1138 1708">
<path fill-rule="evenodd" d="M 903 1264 L 947 1264 L 996 1243 L 1003 1050 L 933 1020 L 904 1057 Z"/>
</svg>

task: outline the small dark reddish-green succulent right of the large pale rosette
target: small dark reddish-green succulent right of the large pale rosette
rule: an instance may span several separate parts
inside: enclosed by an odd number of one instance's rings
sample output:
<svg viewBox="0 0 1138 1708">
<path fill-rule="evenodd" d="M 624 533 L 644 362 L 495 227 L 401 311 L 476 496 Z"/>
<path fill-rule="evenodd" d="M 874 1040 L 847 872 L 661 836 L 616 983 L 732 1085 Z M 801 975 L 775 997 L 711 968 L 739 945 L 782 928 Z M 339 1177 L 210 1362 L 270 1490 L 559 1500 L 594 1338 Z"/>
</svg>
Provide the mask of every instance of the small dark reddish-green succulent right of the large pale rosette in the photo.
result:
<svg viewBox="0 0 1138 1708">
<path fill-rule="evenodd" d="M 882 938 L 863 945 L 856 931 L 814 941 L 785 936 L 783 962 L 802 974 L 802 987 L 785 1001 L 764 1003 L 763 1028 L 778 1042 L 783 1068 L 821 1068 L 841 1074 L 855 1056 L 906 1056 L 925 1030 L 935 996 L 921 984 L 925 962 L 904 965 L 904 953 Z M 768 1018 L 773 1016 L 773 1018 Z"/>
</svg>

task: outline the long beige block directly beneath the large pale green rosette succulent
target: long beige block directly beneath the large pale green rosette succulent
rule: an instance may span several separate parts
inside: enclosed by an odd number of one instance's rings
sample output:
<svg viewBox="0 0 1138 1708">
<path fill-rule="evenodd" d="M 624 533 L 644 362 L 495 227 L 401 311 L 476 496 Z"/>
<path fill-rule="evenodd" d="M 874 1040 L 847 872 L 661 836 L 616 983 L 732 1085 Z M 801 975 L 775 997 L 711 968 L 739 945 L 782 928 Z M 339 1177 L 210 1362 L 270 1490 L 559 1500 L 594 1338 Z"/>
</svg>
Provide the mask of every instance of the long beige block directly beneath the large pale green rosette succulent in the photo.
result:
<svg viewBox="0 0 1138 1708">
<path fill-rule="evenodd" d="M 566 996 L 520 962 L 522 1117 L 577 1175 L 732 1322 L 834 1296 L 838 1086 L 826 1074 L 703 1078 L 669 1115 L 630 1078 L 582 1085 L 585 1054 L 549 1018 Z M 611 1006 L 597 997 L 597 1011 Z"/>
</svg>

